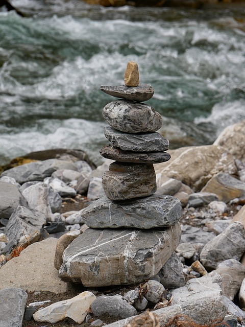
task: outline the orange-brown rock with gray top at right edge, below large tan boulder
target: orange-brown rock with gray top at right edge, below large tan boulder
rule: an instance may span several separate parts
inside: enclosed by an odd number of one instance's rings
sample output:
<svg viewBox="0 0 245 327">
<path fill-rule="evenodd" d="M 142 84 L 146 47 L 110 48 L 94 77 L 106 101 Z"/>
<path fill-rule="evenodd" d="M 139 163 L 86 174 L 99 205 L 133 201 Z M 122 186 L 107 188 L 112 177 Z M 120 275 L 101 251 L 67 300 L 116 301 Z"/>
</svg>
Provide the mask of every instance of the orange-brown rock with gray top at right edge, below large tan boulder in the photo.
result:
<svg viewBox="0 0 245 327">
<path fill-rule="evenodd" d="M 215 193 L 219 201 L 224 202 L 235 198 L 245 199 L 245 183 L 227 173 L 219 173 L 207 182 L 202 192 Z"/>
</svg>

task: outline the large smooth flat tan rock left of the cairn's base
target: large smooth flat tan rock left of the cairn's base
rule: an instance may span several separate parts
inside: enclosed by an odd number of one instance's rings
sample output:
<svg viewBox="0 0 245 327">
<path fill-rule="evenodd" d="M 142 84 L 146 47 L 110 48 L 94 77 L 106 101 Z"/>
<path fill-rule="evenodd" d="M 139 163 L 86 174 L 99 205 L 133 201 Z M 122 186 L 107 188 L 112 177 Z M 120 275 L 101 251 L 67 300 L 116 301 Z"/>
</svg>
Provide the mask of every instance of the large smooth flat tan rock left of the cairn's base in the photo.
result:
<svg viewBox="0 0 245 327">
<path fill-rule="evenodd" d="M 65 293 L 67 283 L 61 281 L 54 267 L 57 239 L 48 238 L 29 245 L 16 258 L 0 269 L 0 289 L 21 288 L 24 291 Z"/>
</svg>

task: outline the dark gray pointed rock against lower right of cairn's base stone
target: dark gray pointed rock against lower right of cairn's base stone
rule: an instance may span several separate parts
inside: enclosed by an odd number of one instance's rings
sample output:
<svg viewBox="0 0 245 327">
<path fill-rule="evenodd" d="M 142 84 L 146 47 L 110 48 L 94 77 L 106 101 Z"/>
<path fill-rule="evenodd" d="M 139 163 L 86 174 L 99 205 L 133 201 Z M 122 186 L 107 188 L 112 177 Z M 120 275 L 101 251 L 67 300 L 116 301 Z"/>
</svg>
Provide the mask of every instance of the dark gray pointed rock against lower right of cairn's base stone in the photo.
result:
<svg viewBox="0 0 245 327">
<path fill-rule="evenodd" d="M 179 288 L 185 285 L 182 263 L 175 252 L 173 252 L 158 273 L 161 284 L 167 288 Z"/>
</svg>

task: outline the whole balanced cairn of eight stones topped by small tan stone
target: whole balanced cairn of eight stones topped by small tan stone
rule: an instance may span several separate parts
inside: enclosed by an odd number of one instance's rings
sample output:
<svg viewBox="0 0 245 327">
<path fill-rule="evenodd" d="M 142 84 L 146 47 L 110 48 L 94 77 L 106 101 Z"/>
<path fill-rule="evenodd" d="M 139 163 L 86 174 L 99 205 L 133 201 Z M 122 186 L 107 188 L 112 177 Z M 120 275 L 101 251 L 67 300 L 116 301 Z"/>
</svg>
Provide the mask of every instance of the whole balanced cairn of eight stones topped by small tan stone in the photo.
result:
<svg viewBox="0 0 245 327">
<path fill-rule="evenodd" d="M 120 98 L 104 107 L 105 136 L 112 146 L 100 153 L 115 160 L 103 175 L 106 194 L 81 215 L 90 228 L 64 251 L 59 270 L 65 280 L 86 287 L 137 284 L 157 274 L 177 248 L 181 230 L 178 199 L 154 194 L 153 164 L 169 160 L 168 141 L 156 131 L 161 115 L 148 104 L 151 85 L 139 84 L 129 62 L 124 86 L 101 86 Z"/>
</svg>

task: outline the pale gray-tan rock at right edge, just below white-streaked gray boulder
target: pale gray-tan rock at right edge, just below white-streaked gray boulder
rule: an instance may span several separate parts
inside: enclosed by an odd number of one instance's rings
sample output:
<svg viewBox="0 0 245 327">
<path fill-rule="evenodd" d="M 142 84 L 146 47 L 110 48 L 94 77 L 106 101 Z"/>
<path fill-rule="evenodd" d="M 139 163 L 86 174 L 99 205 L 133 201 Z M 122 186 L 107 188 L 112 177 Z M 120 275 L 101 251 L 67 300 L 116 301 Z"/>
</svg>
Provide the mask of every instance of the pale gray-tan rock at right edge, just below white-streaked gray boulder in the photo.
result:
<svg viewBox="0 0 245 327">
<path fill-rule="evenodd" d="M 221 276 L 223 295 L 233 300 L 245 278 L 245 267 L 239 261 L 229 259 L 220 263 L 210 275 Z"/>
</svg>

